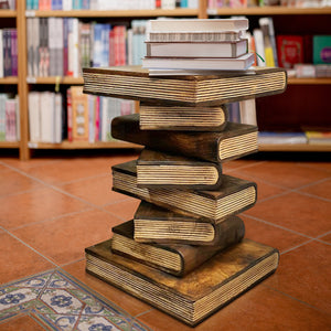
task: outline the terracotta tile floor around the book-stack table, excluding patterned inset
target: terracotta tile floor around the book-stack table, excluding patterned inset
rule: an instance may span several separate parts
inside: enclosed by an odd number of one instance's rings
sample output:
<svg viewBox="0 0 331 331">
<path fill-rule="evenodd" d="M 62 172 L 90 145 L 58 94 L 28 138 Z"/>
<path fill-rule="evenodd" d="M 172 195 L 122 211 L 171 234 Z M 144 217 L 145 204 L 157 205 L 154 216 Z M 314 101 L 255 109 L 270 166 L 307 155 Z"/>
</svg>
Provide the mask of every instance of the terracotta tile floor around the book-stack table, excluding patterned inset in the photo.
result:
<svg viewBox="0 0 331 331">
<path fill-rule="evenodd" d="M 26 162 L 1 157 L 0 284 L 57 268 L 151 330 L 191 330 L 85 273 L 84 248 L 110 237 L 111 227 L 138 206 L 110 190 L 111 164 L 137 156 L 41 153 Z M 195 329 L 331 330 L 330 154 L 259 153 L 224 164 L 224 173 L 258 184 L 258 202 L 242 214 L 246 237 L 277 247 L 280 264 Z M 24 314 L 0 322 L 0 330 L 44 328 Z"/>
</svg>

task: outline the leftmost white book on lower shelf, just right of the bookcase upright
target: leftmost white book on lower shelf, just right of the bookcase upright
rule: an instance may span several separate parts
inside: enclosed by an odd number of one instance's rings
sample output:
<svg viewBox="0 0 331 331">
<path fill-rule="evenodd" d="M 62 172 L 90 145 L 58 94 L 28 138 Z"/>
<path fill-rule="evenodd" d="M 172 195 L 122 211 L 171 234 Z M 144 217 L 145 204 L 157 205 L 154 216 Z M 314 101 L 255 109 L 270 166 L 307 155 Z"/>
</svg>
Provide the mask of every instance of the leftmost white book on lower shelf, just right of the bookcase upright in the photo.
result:
<svg viewBox="0 0 331 331">
<path fill-rule="evenodd" d="M 30 92 L 28 96 L 29 106 L 29 132 L 31 142 L 41 141 L 41 117 L 40 117 L 40 93 Z"/>
</svg>

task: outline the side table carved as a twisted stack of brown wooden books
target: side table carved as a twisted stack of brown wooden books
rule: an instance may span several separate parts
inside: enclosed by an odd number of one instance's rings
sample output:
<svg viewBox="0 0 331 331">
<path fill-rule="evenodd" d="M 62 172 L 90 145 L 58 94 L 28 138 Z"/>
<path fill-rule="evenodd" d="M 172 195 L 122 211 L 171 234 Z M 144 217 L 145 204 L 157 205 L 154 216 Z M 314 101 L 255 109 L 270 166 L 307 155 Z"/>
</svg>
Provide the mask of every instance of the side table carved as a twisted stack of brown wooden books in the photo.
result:
<svg viewBox="0 0 331 331">
<path fill-rule="evenodd" d="M 85 93 L 140 100 L 140 115 L 115 118 L 111 132 L 145 146 L 113 167 L 113 190 L 140 205 L 86 248 L 86 270 L 192 327 L 273 274 L 278 250 L 244 238 L 239 217 L 256 183 L 223 173 L 257 151 L 257 127 L 228 122 L 226 104 L 284 92 L 286 72 L 156 77 L 126 66 L 83 76 Z"/>
</svg>

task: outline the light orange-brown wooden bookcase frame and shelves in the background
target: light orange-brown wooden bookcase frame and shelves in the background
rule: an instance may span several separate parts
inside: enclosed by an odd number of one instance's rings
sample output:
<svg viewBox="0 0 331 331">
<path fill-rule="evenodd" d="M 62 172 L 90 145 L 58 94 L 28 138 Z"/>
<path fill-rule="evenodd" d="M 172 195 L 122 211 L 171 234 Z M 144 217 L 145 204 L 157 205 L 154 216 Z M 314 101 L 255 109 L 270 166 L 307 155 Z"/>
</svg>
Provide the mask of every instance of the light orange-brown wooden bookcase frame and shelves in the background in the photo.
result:
<svg viewBox="0 0 331 331">
<path fill-rule="evenodd" d="M 331 25 L 329 24 L 331 18 L 331 8 L 281 8 L 281 7 L 264 7 L 264 8 L 243 8 L 243 9 L 218 9 L 210 11 L 207 10 L 207 0 L 200 0 L 197 9 L 175 9 L 175 10 L 125 10 L 125 11 L 95 11 L 95 10 L 73 10 L 73 11 L 25 11 L 25 1 L 17 1 L 17 10 L 0 10 L 0 21 L 10 20 L 18 29 L 18 46 L 19 46 L 19 76 L 18 77 L 4 77 L 0 78 L 0 92 L 8 86 L 12 85 L 17 88 L 20 97 L 20 124 L 21 124 L 21 141 L 20 142 L 0 142 L 0 148 L 14 148 L 19 149 L 21 160 L 29 160 L 31 152 L 34 149 L 114 149 L 114 148 L 135 148 L 134 143 L 127 142 L 68 142 L 62 143 L 30 143 L 29 142 L 29 119 L 28 119 L 28 93 L 38 84 L 44 86 L 45 89 L 56 84 L 55 77 L 35 77 L 28 79 L 28 54 L 26 54 L 26 17 L 74 17 L 74 18 L 93 18 L 105 19 L 111 21 L 118 18 L 125 20 L 132 20 L 135 18 L 157 18 L 157 17 L 191 17 L 191 18 L 213 18 L 215 15 L 229 17 L 229 15 L 246 15 L 249 19 L 249 25 L 252 22 L 256 22 L 259 17 L 270 15 L 275 21 L 276 33 L 278 31 L 295 33 L 305 32 L 307 29 L 311 29 L 310 33 L 317 34 L 331 34 Z M 6 19 L 6 20 L 2 20 Z M 329 20 L 329 21 L 328 21 Z M 279 26 L 281 29 L 279 30 Z M 295 26 L 295 29 L 293 29 Z M 0 28 L 4 28 L 0 23 Z M 62 85 L 83 85 L 83 78 L 62 77 L 60 84 Z M 293 89 L 293 92 L 291 92 Z M 302 109 L 306 118 L 313 118 L 317 111 L 320 111 L 323 116 L 328 115 L 328 93 L 331 93 L 331 78 L 316 78 L 316 79 L 300 79 L 290 78 L 288 90 L 295 95 L 300 95 L 300 92 L 311 94 L 310 105 L 307 109 Z M 284 94 L 281 95 L 284 96 Z M 277 96 L 276 96 L 277 97 Z M 299 96 L 300 97 L 300 96 Z M 282 98 L 282 97 L 281 97 Z M 292 108 L 291 95 L 284 98 L 287 103 L 284 105 L 285 114 L 291 111 L 298 113 L 298 109 Z M 295 97 L 295 100 L 298 97 Z M 289 100 L 290 99 L 290 100 Z M 324 110 L 317 109 L 313 105 L 316 99 L 319 99 L 319 107 L 324 106 Z M 275 105 L 279 105 L 279 99 Z M 299 105 L 300 106 L 300 105 Z M 310 108 L 311 107 L 311 108 Z M 270 107 L 268 107 L 269 109 Z M 269 109 L 269 114 L 278 114 L 279 109 L 275 107 Z M 258 113 L 259 116 L 259 113 Z M 285 116 L 286 118 L 286 116 Z M 329 115 L 330 118 L 330 115 Z M 322 117 L 321 117 L 322 120 Z M 325 118 L 327 120 L 327 118 Z M 267 151 L 331 151 L 331 146 L 312 146 L 312 145 L 276 145 L 276 146 L 259 146 L 259 150 Z"/>
</svg>

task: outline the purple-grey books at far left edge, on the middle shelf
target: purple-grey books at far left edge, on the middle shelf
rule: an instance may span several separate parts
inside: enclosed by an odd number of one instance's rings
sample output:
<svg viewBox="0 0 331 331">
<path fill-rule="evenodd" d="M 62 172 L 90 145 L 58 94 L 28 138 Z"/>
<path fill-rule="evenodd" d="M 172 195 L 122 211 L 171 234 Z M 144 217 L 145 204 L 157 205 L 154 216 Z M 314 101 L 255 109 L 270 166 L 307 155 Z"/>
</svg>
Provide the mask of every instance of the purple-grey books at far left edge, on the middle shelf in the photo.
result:
<svg viewBox="0 0 331 331">
<path fill-rule="evenodd" d="M 17 29 L 0 29 L 0 77 L 18 75 Z"/>
</svg>

